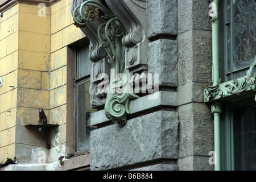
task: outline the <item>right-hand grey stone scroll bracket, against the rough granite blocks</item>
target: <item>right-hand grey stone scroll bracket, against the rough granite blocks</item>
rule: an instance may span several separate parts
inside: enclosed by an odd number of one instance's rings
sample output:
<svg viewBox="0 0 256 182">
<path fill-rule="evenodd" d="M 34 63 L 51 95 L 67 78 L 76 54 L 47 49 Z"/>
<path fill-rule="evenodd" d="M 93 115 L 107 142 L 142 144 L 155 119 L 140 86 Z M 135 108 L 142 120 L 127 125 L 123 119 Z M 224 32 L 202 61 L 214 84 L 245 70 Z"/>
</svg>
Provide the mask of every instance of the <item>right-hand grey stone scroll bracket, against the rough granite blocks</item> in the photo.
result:
<svg viewBox="0 0 256 182">
<path fill-rule="evenodd" d="M 106 0 L 109 8 L 125 27 L 122 38 L 125 67 L 130 73 L 147 70 L 146 0 Z"/>
</svg>

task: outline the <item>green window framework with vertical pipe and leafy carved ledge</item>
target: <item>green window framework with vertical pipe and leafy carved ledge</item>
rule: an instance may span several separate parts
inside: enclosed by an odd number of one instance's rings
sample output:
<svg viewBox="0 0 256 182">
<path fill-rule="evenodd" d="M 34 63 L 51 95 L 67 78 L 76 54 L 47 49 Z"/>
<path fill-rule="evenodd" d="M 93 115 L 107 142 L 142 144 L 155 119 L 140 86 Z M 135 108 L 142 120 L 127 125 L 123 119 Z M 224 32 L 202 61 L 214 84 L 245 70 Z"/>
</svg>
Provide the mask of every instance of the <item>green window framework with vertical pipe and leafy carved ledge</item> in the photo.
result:
<svg viewBox="0 0 256 182">
<path fill-rule="evenodd" d="M 241 106 L 245 98 L 254 98 L 255 96 L 256 75 L 254 67 L 256 57 L 250 68 L 245 68 L 248 71 L 244 77 L 225 80 L 225 77 L 223 77 L 226 73 L 225 64 L 224 61 L 221 61 L 221 56 L 226 55 L 226 52 L 219 46 L 221 43 L 219 27 L 222 26 L 220 16 L 224 16 L 224 12 L 220 10 L 223 3 L 220 3 L 222 0 L 213 0 L 212 2 L 216 5 L 211 6 L 216 7 L 216 9 L 212 9 L 210 12 L 213 13 L 209 14 L 212 17 L 213 84 L 208 84 L 204 89 L 204 102 L 212 104 L 212 113 L 214 114 L 214 136 L 217 136 L 214 138 L 217 161 L 215 169 L 234 170 L 232 107 L 236 104 Z M 214 11 L 217 13 L 214 13 Z M 223 75 L 221 75 L 221 72 L 223 72 Z M 221 80 L 224 82 L 221 82 Z"/>
</svg>

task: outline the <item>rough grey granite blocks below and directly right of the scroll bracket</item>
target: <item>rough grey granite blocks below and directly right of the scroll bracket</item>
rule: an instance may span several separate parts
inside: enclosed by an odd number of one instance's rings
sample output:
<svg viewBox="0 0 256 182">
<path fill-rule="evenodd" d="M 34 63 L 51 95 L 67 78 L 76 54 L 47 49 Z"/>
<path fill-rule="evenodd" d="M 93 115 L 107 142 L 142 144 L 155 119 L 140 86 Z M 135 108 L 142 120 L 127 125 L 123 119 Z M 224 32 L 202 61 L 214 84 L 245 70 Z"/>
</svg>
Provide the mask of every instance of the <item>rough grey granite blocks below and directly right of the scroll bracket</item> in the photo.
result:
<svg viewBox="0 0 256 182">
<path fill-rule="evenodd" d="M 159 74 L 164 91 L 158 102 L 138 98 L 130 102 L 131 118 L 124 127 L 109 125 L 93 130 L 90 139 L 90 169 L 177 170 L 179 119 L 177 98 L 177 1 L 147 1 L 148 73 Z M 172 88 L 171 91 L 168 88 Z M 170 96 L 170 97 L 169 97 Z M 138 102 L 141 103 L 141 102 Z M 149 105 L 152 107 L 147 107 Z M 156 104 L 157 103 L 157 104 Z M 167 104 L 169 103 L 169 104 Z M 136 110 L 136 111 L 135 111 Z M 142 112 L 143 110 L 143 112 Z M 100 115 L 98 111 L 98 115 Z M 92 123 L 100 124 L 96 113 Z M 104 116 L 100 117 L 104 120 Z M 108 121 L 105 123 L 108 123 Z M 97 125 L 96 124 L 96 125 Z M 163 161 L 164 160 L 164 161 Z"/>
</svg>

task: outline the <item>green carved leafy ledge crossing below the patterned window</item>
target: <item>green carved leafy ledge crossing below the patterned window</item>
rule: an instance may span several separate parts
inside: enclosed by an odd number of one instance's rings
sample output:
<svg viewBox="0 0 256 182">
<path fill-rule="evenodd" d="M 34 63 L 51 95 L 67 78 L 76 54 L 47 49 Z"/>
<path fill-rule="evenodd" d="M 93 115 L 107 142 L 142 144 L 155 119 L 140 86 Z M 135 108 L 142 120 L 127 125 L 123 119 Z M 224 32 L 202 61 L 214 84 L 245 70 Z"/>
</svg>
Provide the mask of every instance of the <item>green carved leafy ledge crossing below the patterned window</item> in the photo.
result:
<svg viewBox="0 0 256 182">
<path fill-rule="evenodd" d="M 238 95 L 247 90 L 256 91 L 256 75 L 253 73 L 255 64 L 256 57 L 253 64 L 251 64 L 249 70 L 247 71 L 247 76 L 245 77 L 237 78 L 224 83 L 220 83 L 221 80 L 219 80 L 218 84 L 215 86 L 207 85 L 207 87 L 204 89 L 204 101 L 211 102 L 221 100 L 224 97 L 232 96 L 234 94 Z"/>
</svg>

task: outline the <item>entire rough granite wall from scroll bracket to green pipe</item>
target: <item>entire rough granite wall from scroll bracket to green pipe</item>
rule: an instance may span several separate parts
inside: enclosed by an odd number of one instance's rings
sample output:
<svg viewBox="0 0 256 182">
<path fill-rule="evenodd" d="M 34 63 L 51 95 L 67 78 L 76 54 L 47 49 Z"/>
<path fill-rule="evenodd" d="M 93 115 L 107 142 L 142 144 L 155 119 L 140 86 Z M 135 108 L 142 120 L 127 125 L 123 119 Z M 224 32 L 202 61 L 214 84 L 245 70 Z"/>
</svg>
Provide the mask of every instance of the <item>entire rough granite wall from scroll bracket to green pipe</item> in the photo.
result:
<svg viewBox="0 0 256 182">
<path fill-rule="evenodd" d="M 159 73 L 166 97 L 152 107 L 147 96 L 130 102 L 124 127 L 112 125 L 102 110 L 93 113 L 92 123 L 100 127 L 91 135 L 91 170 L 214 169 L 208 163 L 213 117 L 203 101 L 203 89 L 212 80 L 209 3 L 147 1 L 148 73 Z M 176 98 L 167 105 L 173 98 L 168 95 Z"/>
</svg>

